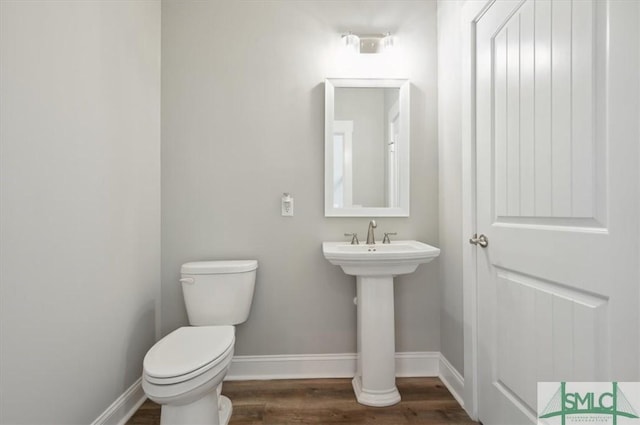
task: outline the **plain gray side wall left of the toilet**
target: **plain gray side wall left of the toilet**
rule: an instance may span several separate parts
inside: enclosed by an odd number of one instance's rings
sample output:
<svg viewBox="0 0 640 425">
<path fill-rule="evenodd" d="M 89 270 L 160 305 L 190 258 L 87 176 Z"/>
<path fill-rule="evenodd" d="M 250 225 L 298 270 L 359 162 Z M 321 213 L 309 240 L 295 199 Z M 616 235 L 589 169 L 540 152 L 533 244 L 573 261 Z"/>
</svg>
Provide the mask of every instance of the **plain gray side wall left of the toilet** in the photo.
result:
<svg viewBox="0 0 640 425">
<path fill-rule="evenodd" d="M 87 424 L 156 336 L 160 4 L 0 15 L 0 422 Z"/>
</svg>

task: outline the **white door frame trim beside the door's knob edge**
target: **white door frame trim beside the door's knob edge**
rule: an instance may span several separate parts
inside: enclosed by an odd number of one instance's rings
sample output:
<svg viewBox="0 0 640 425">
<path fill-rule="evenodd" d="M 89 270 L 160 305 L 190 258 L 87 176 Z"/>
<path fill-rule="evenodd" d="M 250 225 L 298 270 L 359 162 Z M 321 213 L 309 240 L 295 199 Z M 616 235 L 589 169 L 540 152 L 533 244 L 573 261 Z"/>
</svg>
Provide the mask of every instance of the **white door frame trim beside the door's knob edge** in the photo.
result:
<svg viewBox="0 0 640 425">
<path fill-rule="evenodd" d="M 478 419 L 478 292 L 476 253 L 476 24 L 495 0 L 466 1 L 461 11 L 462 46 L 462 287 L 464 408 Z"/>
</svg>

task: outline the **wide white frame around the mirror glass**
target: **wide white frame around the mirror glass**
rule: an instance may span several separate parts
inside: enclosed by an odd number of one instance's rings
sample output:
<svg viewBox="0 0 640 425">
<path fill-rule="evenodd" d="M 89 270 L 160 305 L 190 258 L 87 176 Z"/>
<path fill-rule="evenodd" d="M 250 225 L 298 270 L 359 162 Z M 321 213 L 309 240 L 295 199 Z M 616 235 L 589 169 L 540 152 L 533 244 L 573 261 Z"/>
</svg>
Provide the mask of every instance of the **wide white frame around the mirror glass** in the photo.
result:
<svg viewBox="0 0 640 425">
<path fill-rule="evenodd" d="M 324 215 L 325 217 L 409 217 L 410 114 L 408 79 L 327 78 L 324 105 Z M 333 207 L 333 122 L 335 119 L 335 89 L 339 87 L 397 88 L 400 134 L 398 137 L 398 203 L 397 207 Z"/>
</svg>

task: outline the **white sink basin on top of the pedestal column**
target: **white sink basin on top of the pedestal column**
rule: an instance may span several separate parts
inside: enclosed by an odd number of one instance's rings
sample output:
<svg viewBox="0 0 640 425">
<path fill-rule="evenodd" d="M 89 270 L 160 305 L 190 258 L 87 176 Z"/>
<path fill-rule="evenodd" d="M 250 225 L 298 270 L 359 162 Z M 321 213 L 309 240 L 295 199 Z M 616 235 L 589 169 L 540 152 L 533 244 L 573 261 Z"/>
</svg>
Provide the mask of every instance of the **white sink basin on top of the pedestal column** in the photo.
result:
<svg viewBox="0 0 640 425">
<path fill-rule="evenodd" d="M 413 273 L 418 265 L 440 255 L 440 250 L 418 241 L 351 245 L 324 242 L 322 252 L 331 264 L 354 276 L 397 276 Z"/>
</svg>

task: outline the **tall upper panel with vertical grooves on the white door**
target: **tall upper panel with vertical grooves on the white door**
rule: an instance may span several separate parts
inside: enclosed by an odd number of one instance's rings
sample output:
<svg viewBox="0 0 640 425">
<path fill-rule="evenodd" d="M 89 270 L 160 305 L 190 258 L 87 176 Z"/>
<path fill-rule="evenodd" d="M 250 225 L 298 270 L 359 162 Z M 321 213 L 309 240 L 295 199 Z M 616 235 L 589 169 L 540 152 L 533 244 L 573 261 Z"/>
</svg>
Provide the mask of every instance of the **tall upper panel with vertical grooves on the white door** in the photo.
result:
<svg viewBox="0 0 640 425">
<path fill-rule="evenodd" d="M 527 0 L 488 40 L 499 221 L 595 218 L 593 19 L 588 1 Z"/>
</svg>

